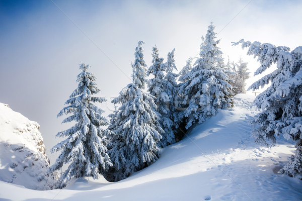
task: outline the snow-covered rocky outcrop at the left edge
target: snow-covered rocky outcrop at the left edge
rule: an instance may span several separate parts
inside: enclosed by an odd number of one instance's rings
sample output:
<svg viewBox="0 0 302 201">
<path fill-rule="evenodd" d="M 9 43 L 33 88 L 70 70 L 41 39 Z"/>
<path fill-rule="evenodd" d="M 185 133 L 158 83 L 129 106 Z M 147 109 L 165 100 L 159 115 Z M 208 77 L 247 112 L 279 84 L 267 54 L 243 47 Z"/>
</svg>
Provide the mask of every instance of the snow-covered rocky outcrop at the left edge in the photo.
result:
<svg viewBox="0 0 302 201">
<path fill-rule="evenodd" d="M 39 127 L 0 103 L 0 180 L 37 190 L 51 188 L 53 177 L 46 173 L 49 159 Z"/>
</svg>

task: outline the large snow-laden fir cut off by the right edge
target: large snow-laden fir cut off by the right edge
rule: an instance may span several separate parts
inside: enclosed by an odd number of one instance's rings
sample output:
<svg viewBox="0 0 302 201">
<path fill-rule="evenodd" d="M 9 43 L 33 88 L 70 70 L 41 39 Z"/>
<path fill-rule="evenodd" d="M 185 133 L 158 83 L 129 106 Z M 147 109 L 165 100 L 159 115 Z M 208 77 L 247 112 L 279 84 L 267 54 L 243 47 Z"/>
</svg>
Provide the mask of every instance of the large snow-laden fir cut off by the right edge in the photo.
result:
<svg viewBox="0 0 302 201">
<path fill-rule="evenodd" d="M 259 94 L 255 104 L 262 112 L 257 114 L 252 125 L 259 127 L 253 131 L 256 142 L 273 146 L 276 136 L 297 141 L 295 155 L 289 159 L 282 171 L 302 178 L 302 47 L 289 52 L 288 47 L 276 47 L 260 42 L 245 42 L 243 39 L 233 45 L 249 47 L 248 55 L 258 57 L 261 66 L 255 75 L 263 73 L 276 63 L 277 69 L 253 83 L 249 89 L 271 85 Z"/>
</svg>

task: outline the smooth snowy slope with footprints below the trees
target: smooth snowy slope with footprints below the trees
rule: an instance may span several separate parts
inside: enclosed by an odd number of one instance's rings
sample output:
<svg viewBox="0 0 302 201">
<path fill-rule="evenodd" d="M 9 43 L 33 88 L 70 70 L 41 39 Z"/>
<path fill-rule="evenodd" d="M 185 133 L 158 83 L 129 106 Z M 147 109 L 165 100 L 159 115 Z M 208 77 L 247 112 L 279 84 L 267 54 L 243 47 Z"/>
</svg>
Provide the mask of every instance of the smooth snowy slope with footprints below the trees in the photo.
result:
<svg viewBox="0 0 302 201">
<path fill-rule="evenodd" d="M 248 121 L 254 96 L 235 96 L 235 106 L 192 129 L 161 158 L 127 179 L 110 183 L 83 177 L 65 189 L 35 191 L 0 182 L 11 200 L 302 200 L 302 180 L 278 172 L 293 142 L 271 149 L 254 143 Z M 15 194 L 12 192 L 18 191 Z M 0 199 L 1 200 L 1 199 Z"/>
</svg>

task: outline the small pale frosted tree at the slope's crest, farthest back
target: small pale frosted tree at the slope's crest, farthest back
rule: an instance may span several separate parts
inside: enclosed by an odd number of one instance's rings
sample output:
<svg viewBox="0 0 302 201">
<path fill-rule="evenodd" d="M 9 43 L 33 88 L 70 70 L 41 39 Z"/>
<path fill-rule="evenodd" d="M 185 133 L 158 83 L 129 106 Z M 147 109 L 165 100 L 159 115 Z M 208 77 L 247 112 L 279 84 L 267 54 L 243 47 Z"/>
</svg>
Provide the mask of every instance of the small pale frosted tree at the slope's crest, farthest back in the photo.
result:
<svg viewBox="0 0 302 201">
<path fill-rule="evenodd" d="M 238 93 L 246 93 L 246 80 L 250 78 L 250 73 L 248 71 L 248 63 L 243 62 L 240 57 L 238 60 L 238 64 L 236 64 L 237 68 L 235 69 L 235 94 Z"/>
</svg>

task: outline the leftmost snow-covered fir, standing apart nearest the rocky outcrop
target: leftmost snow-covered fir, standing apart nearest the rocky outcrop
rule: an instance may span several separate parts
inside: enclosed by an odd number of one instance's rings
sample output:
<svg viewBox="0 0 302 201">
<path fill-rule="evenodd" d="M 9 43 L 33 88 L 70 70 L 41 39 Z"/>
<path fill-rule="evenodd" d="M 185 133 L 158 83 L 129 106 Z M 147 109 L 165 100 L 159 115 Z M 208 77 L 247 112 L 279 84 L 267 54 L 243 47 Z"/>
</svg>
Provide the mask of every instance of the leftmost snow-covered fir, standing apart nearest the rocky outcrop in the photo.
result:
<svg viewBox="0 0 302 201">
<path fill-rule="evenodd" d="M 51 152 L 60 151 L 59 157 L 49 168 L 50 172 L 60 169 L 63 164 L 69 165 L 59 178 L 59 186 L 64 187 L 72 178 L 81 176 L 92 176 L 98 178 L 98 173 L 104 173 L 112 165 L 107 148 L 104 145 L 104 130 L 100 126 L 109 125 L 109 121 L 102 116 L 104 112 L 93 103 L 106 101 L 103 97 L 95 97 L 100 89 L 96 86 L 96 77 L 88 72 L 90 65 L 82 63 L 82 72 L 78 75 L 79 82 L 66 105 L 58 117 L 62 115 L 71 116 L 65 118 L 62 123 L 77 122 L 71 128 L 58 132 L 56 137 L 67 137 L 64 141 L 55 145 Z"/>
</svg>

